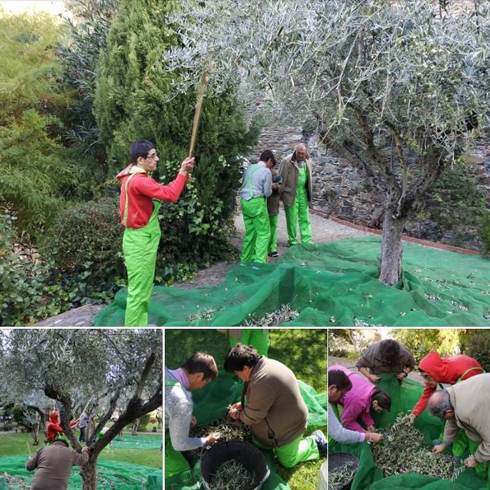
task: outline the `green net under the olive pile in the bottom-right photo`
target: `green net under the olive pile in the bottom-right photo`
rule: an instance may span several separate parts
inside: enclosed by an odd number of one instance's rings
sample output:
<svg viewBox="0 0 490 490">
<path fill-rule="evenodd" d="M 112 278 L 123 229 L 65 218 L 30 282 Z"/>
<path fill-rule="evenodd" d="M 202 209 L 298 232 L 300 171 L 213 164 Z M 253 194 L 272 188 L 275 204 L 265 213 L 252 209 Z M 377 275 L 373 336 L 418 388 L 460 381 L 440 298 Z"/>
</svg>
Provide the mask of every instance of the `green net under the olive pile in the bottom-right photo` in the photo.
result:
<svg viewBox="0 0 490 490">
<path fill-rule="evenodd" d="M 384 428 L 386 425 L 391 425 L 398 414 L 411 412 L 423 393 L 423 385 L 411 379 L 404 379 L 400 384 L 393 375 L 380 375 L 380 377 L 382 379 L 377 384 L 391 396 L 391 410 L 373 414 L 373 418 L 376 427 Z M 427 447 L 432 447 L 433 441 L 439 439 L 443 431 L 441 420 L 432 416 L 427 409 L 416 418 L 415 426 L 423 433 Z M 479 465 L 477 470 L 467 468 L 455 482 L 418 473 L 383 477 L 382 471 L 375 466 L 368 443 L 330 442 L 329 451 L 350 452 L 359 458 L 360 466 L 354 475 L 352 490 L 487 490 L 490 488 L 488 468 L 490 464 Z M 477 444 L 473 445 L 473 450 L 475 446 Z M 445 452 L 451 453 L 451 447 L 446 448 Z M 457 443 L 453 445 L 452 453 L 457 457 L 466 457 L 470 453 L 468 439 L 463 432 L 460 433 Z"/>
</svg>

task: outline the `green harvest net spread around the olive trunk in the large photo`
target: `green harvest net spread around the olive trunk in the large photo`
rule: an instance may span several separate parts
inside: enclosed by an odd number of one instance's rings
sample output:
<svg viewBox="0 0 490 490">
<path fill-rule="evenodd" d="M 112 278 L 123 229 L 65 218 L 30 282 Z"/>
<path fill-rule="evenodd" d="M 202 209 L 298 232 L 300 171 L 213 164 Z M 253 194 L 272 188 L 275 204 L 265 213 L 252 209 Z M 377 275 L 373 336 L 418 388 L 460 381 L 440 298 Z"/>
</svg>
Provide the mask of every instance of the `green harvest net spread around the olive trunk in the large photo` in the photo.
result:
<svg viewBox="0 0 490 490">
<path fill-rule="evenodd" d="M 167 326 L 245 325 L 290 303 L 300 315 L 286 325 L 422 327 L 490 325 L 490 261 L 483 256 L 405 244 L 403 275 L 389 287 L 377 280 L 378 237 L 295 245 L 279 263 L 234 266 L 218 286 L 183 291 L 156 286 L 149 323 Z M 124 325 L 126 290 L 95 318 Z"/>
</svg>

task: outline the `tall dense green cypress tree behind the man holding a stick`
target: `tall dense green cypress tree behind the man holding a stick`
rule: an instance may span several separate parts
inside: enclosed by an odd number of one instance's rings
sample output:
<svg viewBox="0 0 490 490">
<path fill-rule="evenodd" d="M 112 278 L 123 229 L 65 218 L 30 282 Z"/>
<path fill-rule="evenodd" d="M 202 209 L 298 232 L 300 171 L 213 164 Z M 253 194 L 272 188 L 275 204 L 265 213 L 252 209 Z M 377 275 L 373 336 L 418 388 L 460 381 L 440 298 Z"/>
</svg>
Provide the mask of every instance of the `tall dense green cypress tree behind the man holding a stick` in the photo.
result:
<svg viewBox="0 0 490 490">
<path fill-rule="evenodd" d="M 129 146 L 152 140 L 160 156 L 156 177 L 168 183 L 188 152 L 195 90 L 172 94 L 175 74 L 166 71 L 163 52 L 177 46 L 168 14 L 176 1 L 122 0 L 98 67 L 95 115 L 108 155 L 108 179 L 129 163 Z M 170 97 L 169 97 L 170 96 Z M 170 101 L 168 101 L 170 99 Z M 193 182 L 177 204 L 161 209 L 163 237 L 156 281 L 195 270 L 229 250 L 226 223 L 238 186 L 237 156 L 256 140 L 248 130 L 236 93 L 206 94 L 195 148 Z M 184 265 L 185 263 L 185 265 Z M 180 264 L 180 265 L 179 265 Z M 159 268 L 159 270 L 158 270 Z"/>
</svg>

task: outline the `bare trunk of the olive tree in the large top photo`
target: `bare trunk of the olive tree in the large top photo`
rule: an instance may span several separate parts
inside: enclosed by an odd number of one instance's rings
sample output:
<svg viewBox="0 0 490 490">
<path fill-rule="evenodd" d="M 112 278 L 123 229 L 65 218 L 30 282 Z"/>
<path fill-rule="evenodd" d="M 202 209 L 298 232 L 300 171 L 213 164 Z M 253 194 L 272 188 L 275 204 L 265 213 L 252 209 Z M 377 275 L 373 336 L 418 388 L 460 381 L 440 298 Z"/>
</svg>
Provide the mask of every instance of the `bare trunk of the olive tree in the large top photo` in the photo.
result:
<svg viewBox="0 0 490 490">
<path fill-rule="evenodd" d="M 393 286 L 402 277 L 402 231 L 405 220 L 405 217 L 395 218 L 389 209 L 384 212 L 379 281 L 387 286 Z"/>
</svg>

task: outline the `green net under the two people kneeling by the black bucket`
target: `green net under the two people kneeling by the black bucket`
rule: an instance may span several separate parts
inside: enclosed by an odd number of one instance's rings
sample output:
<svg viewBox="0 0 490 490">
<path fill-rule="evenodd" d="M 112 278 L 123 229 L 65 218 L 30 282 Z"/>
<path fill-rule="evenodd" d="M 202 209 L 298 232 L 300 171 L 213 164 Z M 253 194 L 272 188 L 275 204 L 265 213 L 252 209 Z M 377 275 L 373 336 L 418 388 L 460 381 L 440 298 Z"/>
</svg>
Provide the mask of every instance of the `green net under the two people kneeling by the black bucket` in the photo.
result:
<svg viewBox="0 0 490 490">
<path fill-rule="evenodd" d="M 308 428 L 313 430 L 327 425 L 327 393 L 316 393 L 311 386 L 298 380 L 300 392 L 308 407 Z M 198 425 L 209 423 L 226 416 L 227 406 L 240 401 L 243 382 L 236 376 L 220 371 L 214 382 L 202 389 L 193 391 L 193 414 Z M 270 476 L 263 484 L 262 490 L 290 490 L 275 470 L 272 450 L 263 450 Z M 165 478 L 165 490 L 199 490 L 200 466 L 199 462 L 190 472 L 182 473 L 171 478 Z"/>
</svg>

